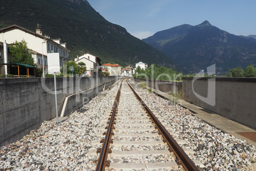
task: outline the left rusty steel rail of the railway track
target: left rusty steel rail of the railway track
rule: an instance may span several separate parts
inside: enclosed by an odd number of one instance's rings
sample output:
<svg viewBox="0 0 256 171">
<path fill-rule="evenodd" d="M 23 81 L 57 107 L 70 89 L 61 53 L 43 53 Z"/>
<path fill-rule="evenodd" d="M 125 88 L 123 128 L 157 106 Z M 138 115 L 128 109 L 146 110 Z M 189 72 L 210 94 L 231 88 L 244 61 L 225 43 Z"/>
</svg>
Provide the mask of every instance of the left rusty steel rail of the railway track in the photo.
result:
<svg viewBox="0 0 256 171">
<path fill-rule="evenodd" d="M 101 149 L 101 154 L 99 155 L 99 159 L 97 161 L 97 167 L 96 170 L 97 171 L 102 171 L 105 170 L 106 167 L 106 160 L 108 158 L 108 153 L 110 151 L 109 147 L 110 147 L 110 140 L 111 140 L 111 135 L 113 133 L 113 123 L 115 120 L 115 115 L 117 113 L 117 106 L 118 106 L 118 102 L 120 99 L 120 93 L 121 93 L 121 88 L 122 88 L 122 82 L 124 81 L 124 79 L 121 81 L 121 84 L 119 86 L 118 92 L 117 92 L 117 97 L 115 98 L 115 102 L 113 104 L 113 111 L 111 114 L 111 118 L 110 118 L 110 123 L 108 125 L 108 130 L 106 132 L 106 136 L 103 142 L 103 147 Z"/>
</svg>

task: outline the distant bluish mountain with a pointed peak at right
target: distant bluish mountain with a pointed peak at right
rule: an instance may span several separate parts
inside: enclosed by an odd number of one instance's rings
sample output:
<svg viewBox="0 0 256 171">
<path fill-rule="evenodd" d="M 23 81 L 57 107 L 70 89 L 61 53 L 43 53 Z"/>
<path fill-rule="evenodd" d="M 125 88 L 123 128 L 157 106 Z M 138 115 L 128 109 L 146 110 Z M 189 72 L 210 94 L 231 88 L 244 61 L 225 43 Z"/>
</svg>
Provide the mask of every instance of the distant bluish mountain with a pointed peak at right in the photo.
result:
<svg viewBox="0 0 256 171">
<path fill-rule="evenodd" d="M 166 35 L 166 36 L 161 36 Z M 198 72 L 216 64 L 217 72 L 256 65 L 256 41 L 235 36 L 211 25 L 180 25 L 143 39 L 188 71 Z"/>
</svg>

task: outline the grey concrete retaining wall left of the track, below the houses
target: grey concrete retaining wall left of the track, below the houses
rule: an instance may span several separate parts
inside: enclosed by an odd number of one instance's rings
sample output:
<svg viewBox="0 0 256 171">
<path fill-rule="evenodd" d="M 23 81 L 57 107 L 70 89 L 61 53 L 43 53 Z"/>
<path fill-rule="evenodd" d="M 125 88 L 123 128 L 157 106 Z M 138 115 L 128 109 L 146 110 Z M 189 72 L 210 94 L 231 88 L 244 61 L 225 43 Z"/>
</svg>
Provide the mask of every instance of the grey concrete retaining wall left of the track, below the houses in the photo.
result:
<svg viewBox="0 0 256 171">
<path fill-rule="evenodd" d="M 64 99 L 78 93 L 68 102 L 66 114 L 78 109 L 97 93 L 116 81 L 116 77 L 56 78 L 58 113 Z M 43 121 L 56 116 L 53 78 L 0 79 L 0 147 L 20 139 Z"/>
</svg>

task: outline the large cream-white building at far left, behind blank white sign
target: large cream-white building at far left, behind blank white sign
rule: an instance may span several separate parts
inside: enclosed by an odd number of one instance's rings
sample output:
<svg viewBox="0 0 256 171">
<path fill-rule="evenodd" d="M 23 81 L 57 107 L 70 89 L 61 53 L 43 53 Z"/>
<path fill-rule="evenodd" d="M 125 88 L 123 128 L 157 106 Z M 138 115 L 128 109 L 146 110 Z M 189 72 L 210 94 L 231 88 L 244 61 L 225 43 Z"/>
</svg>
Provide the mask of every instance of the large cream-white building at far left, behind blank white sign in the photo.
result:
<svg viewBox="0 0 256 171">
<path fill-rule="evenodd" d="M 0 29 L 0 74 L 8 73 L 7 65 L 1 65 L 8 64 L 11 59 L 8 46 L 16 41 L 21 42 L 23 39 L 27 43 L 27 48 L 33 51 L 34 63 L 38 65 L 38 68 L 44 68 L 45 72 L 60 72 L 60 67 L 69 60 L 70 51 L 66 48 L 66 43 L 62 43 L 60 39 L 43 36 L 40 29 L 32 32 L 18 25 L 11 25 Z"/>
</svg>

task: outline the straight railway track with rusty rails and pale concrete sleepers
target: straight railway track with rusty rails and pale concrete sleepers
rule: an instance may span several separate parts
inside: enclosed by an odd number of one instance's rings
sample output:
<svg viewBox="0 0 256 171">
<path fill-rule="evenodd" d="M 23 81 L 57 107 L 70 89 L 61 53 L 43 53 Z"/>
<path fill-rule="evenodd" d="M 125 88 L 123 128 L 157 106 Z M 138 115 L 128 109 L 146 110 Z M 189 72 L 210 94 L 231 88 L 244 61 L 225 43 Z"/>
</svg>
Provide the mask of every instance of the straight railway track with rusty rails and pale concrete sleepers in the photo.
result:
<svg viewBox="0 0 256 171">
<path fill-rule="evenodd" d="M 96 170 L 198 170 L 127 80 L 106 128 Z"/>
</svg>

